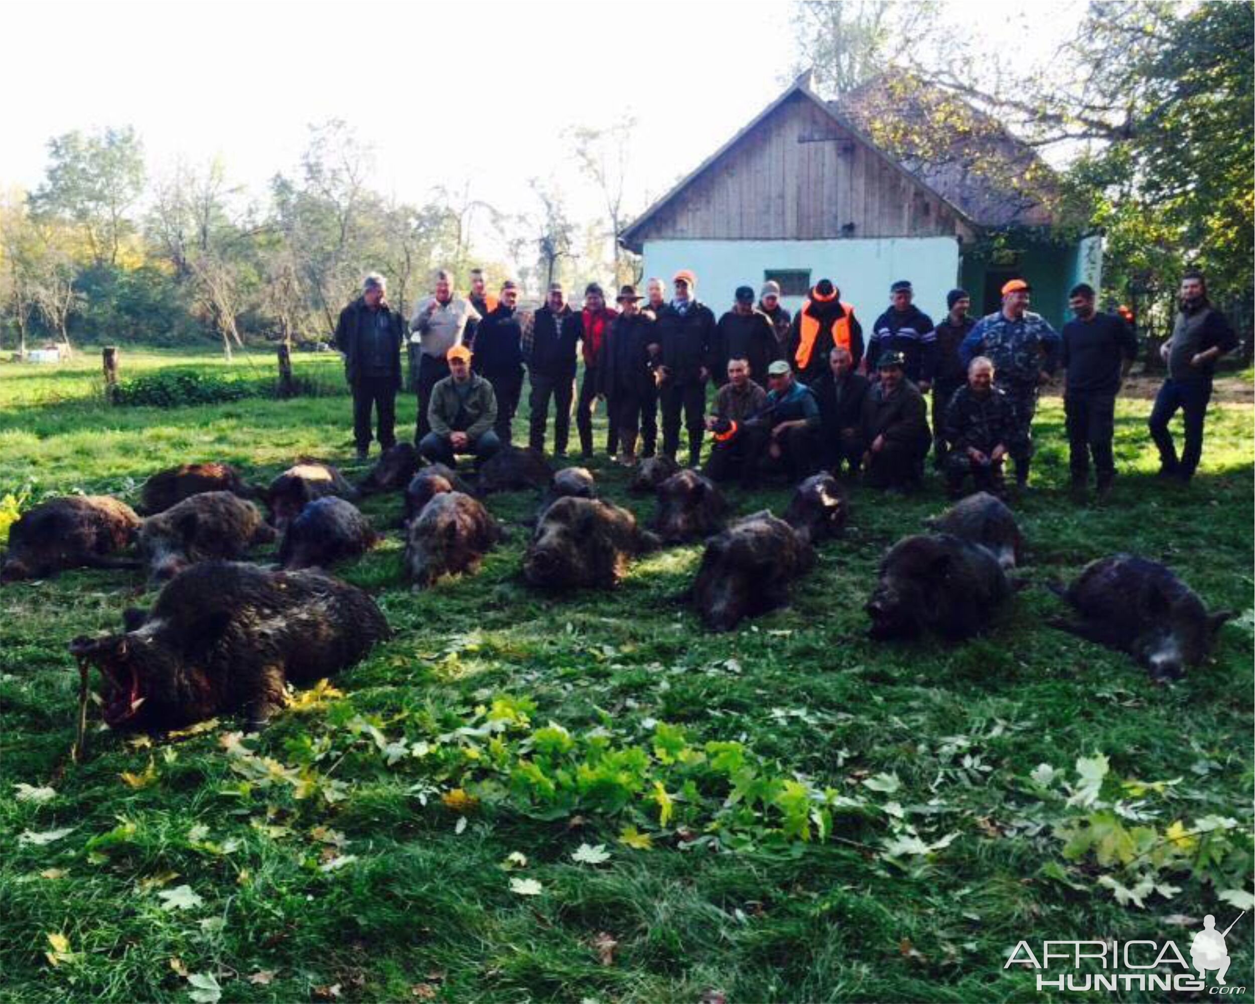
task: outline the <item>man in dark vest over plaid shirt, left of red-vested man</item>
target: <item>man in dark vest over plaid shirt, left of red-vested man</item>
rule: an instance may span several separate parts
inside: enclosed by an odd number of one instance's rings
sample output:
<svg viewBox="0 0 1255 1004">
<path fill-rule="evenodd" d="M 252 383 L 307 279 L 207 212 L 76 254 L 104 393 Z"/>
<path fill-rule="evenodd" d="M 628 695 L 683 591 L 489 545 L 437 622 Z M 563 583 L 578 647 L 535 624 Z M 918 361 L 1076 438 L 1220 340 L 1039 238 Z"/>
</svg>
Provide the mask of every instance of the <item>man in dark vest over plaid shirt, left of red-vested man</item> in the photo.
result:
<svg viewBox="0 0 1255 1004">
<path fill-rule="evenodd" d="M 575 397 L 576 341 L 579 330 L 571 330 L 571 307 L 561 282 L 551 282 L 545 306 L 532 314 L 523 326 L 523 361 L 532 385 L 528 397 L 527 444 L 545 451 L 545 427 L 548 424 L 548 403 L 553 398 L 553 456 L 566 456 L 571 435 L 571 399 Z"/>
</svg>

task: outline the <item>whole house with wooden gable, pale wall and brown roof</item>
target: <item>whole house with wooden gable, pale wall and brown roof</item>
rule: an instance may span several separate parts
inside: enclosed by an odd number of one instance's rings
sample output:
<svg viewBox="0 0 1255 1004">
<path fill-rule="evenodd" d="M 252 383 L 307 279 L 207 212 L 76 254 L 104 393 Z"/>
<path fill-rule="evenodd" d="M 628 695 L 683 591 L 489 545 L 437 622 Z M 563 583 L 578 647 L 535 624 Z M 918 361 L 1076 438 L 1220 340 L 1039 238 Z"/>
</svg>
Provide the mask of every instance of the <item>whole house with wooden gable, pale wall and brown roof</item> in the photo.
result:
<svg viewBox="0 0 1255 1004">
<path fill-rule="evenodd" d="M 1042 195 L 1053 174 L 1013 137 L 983 119 L 974 157 L 911 157 L 901 142 L 872 139 L 910 110 L 887 84 L 828 103 L 807 77 L 620 235 L 644 256 L 645 276 L 669 281 L 692 269 L 699 299 L 717 312 L 737 286 L 757 291 L 767 279 L 794 309 L 828 277 L 865 323 L 897 279 L 911 280 L 916 302 L 939 320 L 953 286 L 969 290 L 979 314 L 996 309 L 1001 284 L 1019 276 L 1034 287 L 1033 307 L 1057 325 L 1073 282 L 1098 286 L 1101 240 L 1057 232 Z"/>
</svg>

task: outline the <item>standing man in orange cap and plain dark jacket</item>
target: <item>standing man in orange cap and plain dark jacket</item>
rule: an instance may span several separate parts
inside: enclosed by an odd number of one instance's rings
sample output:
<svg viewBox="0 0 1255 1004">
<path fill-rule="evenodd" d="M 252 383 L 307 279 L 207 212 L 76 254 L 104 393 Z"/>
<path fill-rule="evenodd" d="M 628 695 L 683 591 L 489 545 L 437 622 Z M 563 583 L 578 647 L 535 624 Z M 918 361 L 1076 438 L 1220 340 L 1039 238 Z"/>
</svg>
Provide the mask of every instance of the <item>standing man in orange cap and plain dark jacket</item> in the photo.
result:
<svg viewBox="0 0 1255 1004">
<path fill-rule="evenodd" d="M 689 466 L 702 463 L 705 434 L 705 385 L 714 355 L 714 314 L 694 296 L 697 276 L 688 269 L 675 274 L 675 299 L 658 318 L 663 346 L 659 397 L 663 400 L 663 452 L 675 459 L 680 448 L 680 414 L 689 433 Z"/>
</svg>

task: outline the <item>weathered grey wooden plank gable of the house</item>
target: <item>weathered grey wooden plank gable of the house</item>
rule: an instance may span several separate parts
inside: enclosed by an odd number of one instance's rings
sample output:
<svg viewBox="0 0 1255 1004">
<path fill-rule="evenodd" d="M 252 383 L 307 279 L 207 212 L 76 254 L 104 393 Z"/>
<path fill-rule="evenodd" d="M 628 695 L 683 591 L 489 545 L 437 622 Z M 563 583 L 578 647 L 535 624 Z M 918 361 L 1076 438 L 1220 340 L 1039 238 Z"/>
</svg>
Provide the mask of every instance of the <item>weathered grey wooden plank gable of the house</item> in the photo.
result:
<svg viewBox="0 0 1255 1004">
<path fill-rule="evenodd" d="M 847 223 L 852 228 L 843 230 Z M 636 240 L 939 237 L 954 211 L 798 94 L 645 221 Z"/>
</svg>

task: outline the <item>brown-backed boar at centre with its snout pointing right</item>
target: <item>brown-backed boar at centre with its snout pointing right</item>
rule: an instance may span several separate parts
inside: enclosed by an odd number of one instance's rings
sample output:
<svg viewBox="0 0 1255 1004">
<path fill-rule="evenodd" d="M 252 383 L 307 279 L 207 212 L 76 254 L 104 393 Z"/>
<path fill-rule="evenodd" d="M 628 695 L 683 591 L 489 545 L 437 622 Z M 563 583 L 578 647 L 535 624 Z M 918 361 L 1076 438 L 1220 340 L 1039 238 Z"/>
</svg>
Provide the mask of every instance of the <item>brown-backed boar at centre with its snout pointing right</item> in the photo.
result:
<svg viewBox="0 0 1255 1004">
<path fill-rule="evenodd" d="M 658 543 L 628 510 L 599 498 L 560 498 L 536 525 L 523 576 L 545 589 L 614 589 L 628 560 Z"/>
</svg>

